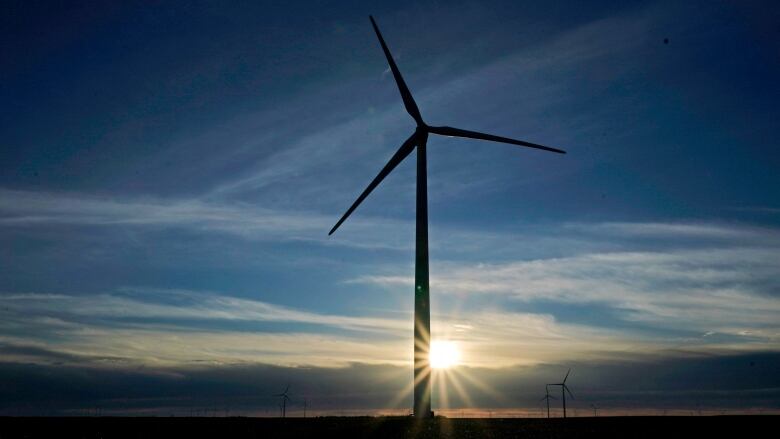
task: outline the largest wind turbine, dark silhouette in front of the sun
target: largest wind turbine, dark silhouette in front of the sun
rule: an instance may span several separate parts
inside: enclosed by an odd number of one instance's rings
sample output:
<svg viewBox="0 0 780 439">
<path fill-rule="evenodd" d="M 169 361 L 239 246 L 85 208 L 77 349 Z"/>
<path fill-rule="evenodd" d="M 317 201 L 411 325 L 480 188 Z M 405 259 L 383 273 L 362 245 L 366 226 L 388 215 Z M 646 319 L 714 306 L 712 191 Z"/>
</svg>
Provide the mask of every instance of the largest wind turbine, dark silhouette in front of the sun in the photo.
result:
<svg viewBox="0 0 780 439">
<path fill-rule="evenodd" d="M 538 145 L 535 143 L 515 140 L 507 137 L 494 136 L 492 134 L 479 133 L 476 131 L 467 131 L 460 128 L 447 126 L 429 126 L 420 114 L 409 87 L 406 86 L 398 66 L 387 48 L 379 27 L 374 21 L 374 17 L 369 16 L 374 32 L 385 53 L 387 63 L 393 72 L 398 91 L 401 93 L 401 99 L 404 102 L 407 113 L 417 123 L 417 127 L 411 136 L 409 136 L 398 151 L 393 154 L 390 161 L 385 164 L 379 174 L 369 183 L 368 187 L 360 194 L 347 212 L 339 219 L 328 235 L 332 235 L 336 229 L 346 220 L 349 215 L 363 202 L 363 200 L 376 188 L 379 183 L 387 177 L 409 154 L 417 148 L 417 229 L 416 229 L 416 257 L 415 257 L 415 281 L 414 281 L 414 416 L 417 418 L 428 418 L 433 416 L 431 412 L 431 380 L 430 368 L 428 362 L 428 353 L 430 352 L 430 333 L 431 333 L 431 311 L 430 311 L 430 290 L 428 286 L 428 172 L 426 162 L 426 145 L 428 143 L 428 134 L 439 134 L 450 137 L 467 137 L 470 139 L 490 140 L 493 142 L 509 143 L 512 145 L 525 146 L 528 148 L 541 149 L 544 151 L 565 154 L 564 151 L 549 146 Z"/>
</svg>

